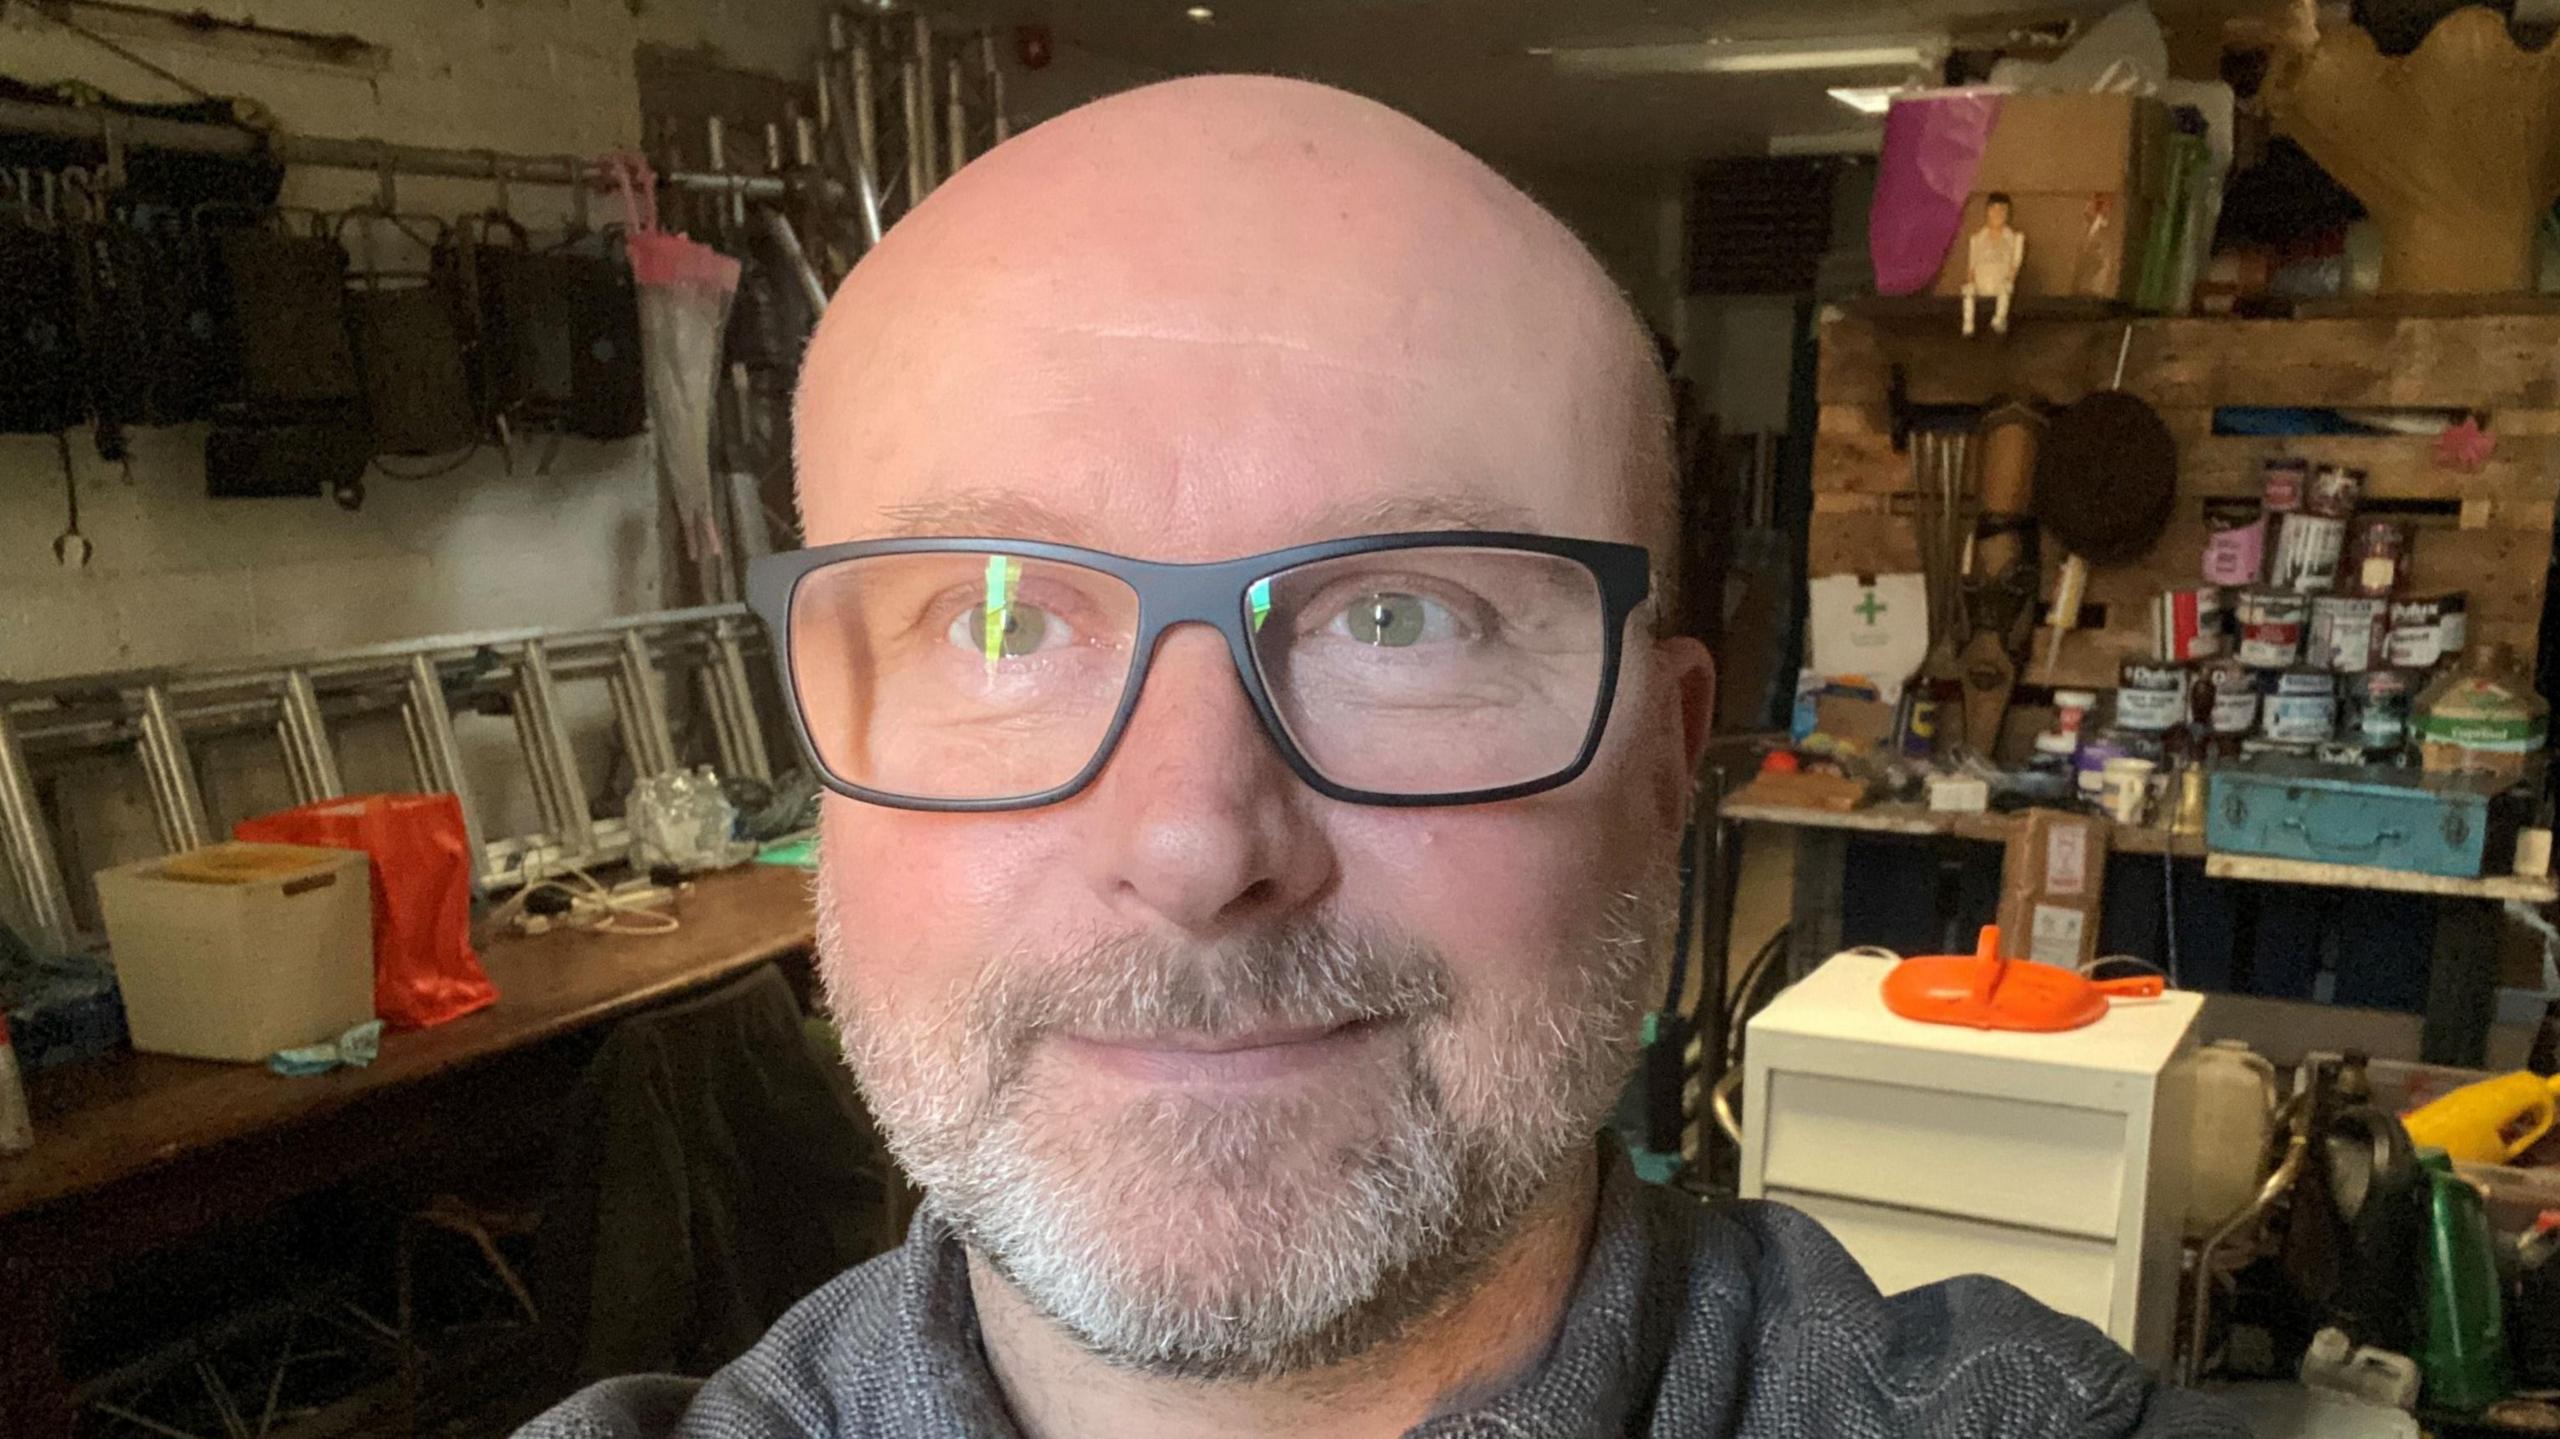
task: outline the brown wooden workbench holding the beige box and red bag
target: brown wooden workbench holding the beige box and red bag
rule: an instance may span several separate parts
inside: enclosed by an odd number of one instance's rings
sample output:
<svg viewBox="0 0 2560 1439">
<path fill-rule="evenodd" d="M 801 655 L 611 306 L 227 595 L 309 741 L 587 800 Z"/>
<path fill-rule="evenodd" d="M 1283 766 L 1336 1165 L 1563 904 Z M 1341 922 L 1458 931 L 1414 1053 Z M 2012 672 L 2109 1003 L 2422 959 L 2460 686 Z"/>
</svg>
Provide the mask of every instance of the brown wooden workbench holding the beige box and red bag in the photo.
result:
<svg viewBox="0 0 2560 1439">
<path fill-rule="evenodd" d="M 36 1147 L 0 1160 L 0 1434 L 67 1434 L 56 1357 L 90 1275 L 261 1214 L 456 1132 L 499 1142 L 558 1101 L 538 1055 L 579 1032 L 714 986 L 814 942 L 809 876 L 704 876 L 673 935 L 499 937 L 481 955 L 499 999 L 392 1032 L 369 1068 L 282 1078 L 256 1065 L 118 1055 L 33 1078 Z"/>
</svg>

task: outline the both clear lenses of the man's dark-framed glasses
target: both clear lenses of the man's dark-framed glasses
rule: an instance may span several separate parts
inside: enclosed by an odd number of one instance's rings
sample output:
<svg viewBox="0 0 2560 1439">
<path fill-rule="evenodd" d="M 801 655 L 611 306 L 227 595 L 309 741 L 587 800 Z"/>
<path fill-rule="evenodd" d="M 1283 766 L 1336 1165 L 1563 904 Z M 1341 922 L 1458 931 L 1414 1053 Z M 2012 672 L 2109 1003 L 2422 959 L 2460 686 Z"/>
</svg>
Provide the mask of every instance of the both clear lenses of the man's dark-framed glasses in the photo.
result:
<svg viewBox="0 0 2560 1439">
<path fill-rule="evenodd" d="M 1341 789 L 1467 794 L 1574 763 L 1600 704 L 1600 586 L 1505 548 L 1336 556 L 1239 597 L 1290 745 Z M 1139 597 L 1096 568 L 965 551 L 801 579 L 791 679 L 819 760 L 906 799 L 1014 799 L 1083 773 L 1137 661 Z"/>
</svg>

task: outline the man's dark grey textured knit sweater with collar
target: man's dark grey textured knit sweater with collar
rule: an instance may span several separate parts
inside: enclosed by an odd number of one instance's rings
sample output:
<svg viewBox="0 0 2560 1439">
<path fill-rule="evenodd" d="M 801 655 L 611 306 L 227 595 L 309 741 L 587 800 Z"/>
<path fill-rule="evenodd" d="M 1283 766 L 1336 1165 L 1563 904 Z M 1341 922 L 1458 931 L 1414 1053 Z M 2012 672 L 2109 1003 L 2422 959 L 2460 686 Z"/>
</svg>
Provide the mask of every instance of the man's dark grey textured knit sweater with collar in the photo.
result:
<svg viewBox="0 0 2560 1439">
<path fill-rule="evenodd" d="M 2104 1334 L 1969 1278 L 1876 1296 L 1818 1224 L 1697 1203 L 1610 1155 L 1592 1255 L 1546 1357 L 1413 1439 L 2245 1439 Z M 845 1273 L 709 1380 L 594 1385 L 520 1439 L 1014 1439 L 950 1229 Z"/>
</svg>

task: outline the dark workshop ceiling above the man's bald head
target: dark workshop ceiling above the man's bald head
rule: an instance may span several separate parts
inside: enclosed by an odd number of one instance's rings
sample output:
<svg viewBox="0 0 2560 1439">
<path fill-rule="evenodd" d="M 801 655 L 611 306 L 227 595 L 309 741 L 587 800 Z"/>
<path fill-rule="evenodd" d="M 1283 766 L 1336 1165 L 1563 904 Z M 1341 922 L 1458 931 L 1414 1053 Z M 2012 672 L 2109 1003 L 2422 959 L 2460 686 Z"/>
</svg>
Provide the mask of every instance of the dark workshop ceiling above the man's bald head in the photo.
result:
<svg viewBox="0 0 2560 1439">
<path fill-rule="evenodd" d="M 1562 74 L 1531 46 L 1705 38 L 1956 33 L 1994 41 L 2017 23 L 2097 15 L 2107 0 L 960 0 L 980 23 L 1042 20 L 1060 54 L 1137 74 L 1249 69 L 1326 79 L 1413 113 L 1521 169 L 1661 169 L 1766 154 L 1772 136 L 1859 118 L 1830 84 L 1900 72 Z"/>
</svg>

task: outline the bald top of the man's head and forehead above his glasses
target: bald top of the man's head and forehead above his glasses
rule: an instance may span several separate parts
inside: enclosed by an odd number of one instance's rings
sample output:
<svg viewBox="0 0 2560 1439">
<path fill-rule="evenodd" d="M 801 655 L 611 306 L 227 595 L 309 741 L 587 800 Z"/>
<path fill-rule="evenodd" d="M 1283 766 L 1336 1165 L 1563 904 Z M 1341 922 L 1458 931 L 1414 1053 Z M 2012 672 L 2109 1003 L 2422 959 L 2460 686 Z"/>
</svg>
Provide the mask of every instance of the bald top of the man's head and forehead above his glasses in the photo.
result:
<svg viewBox="0 0 2560 1439">
<path fill-rule="evenodd" d="M 1590 251 L 1318 84 L 1114 95 L 980 156 L 852 271 L 799 397 L 809 540 L 1224 558 L 1380 527 L 1672 540 L 1654 351 Z"/>
</svg>

